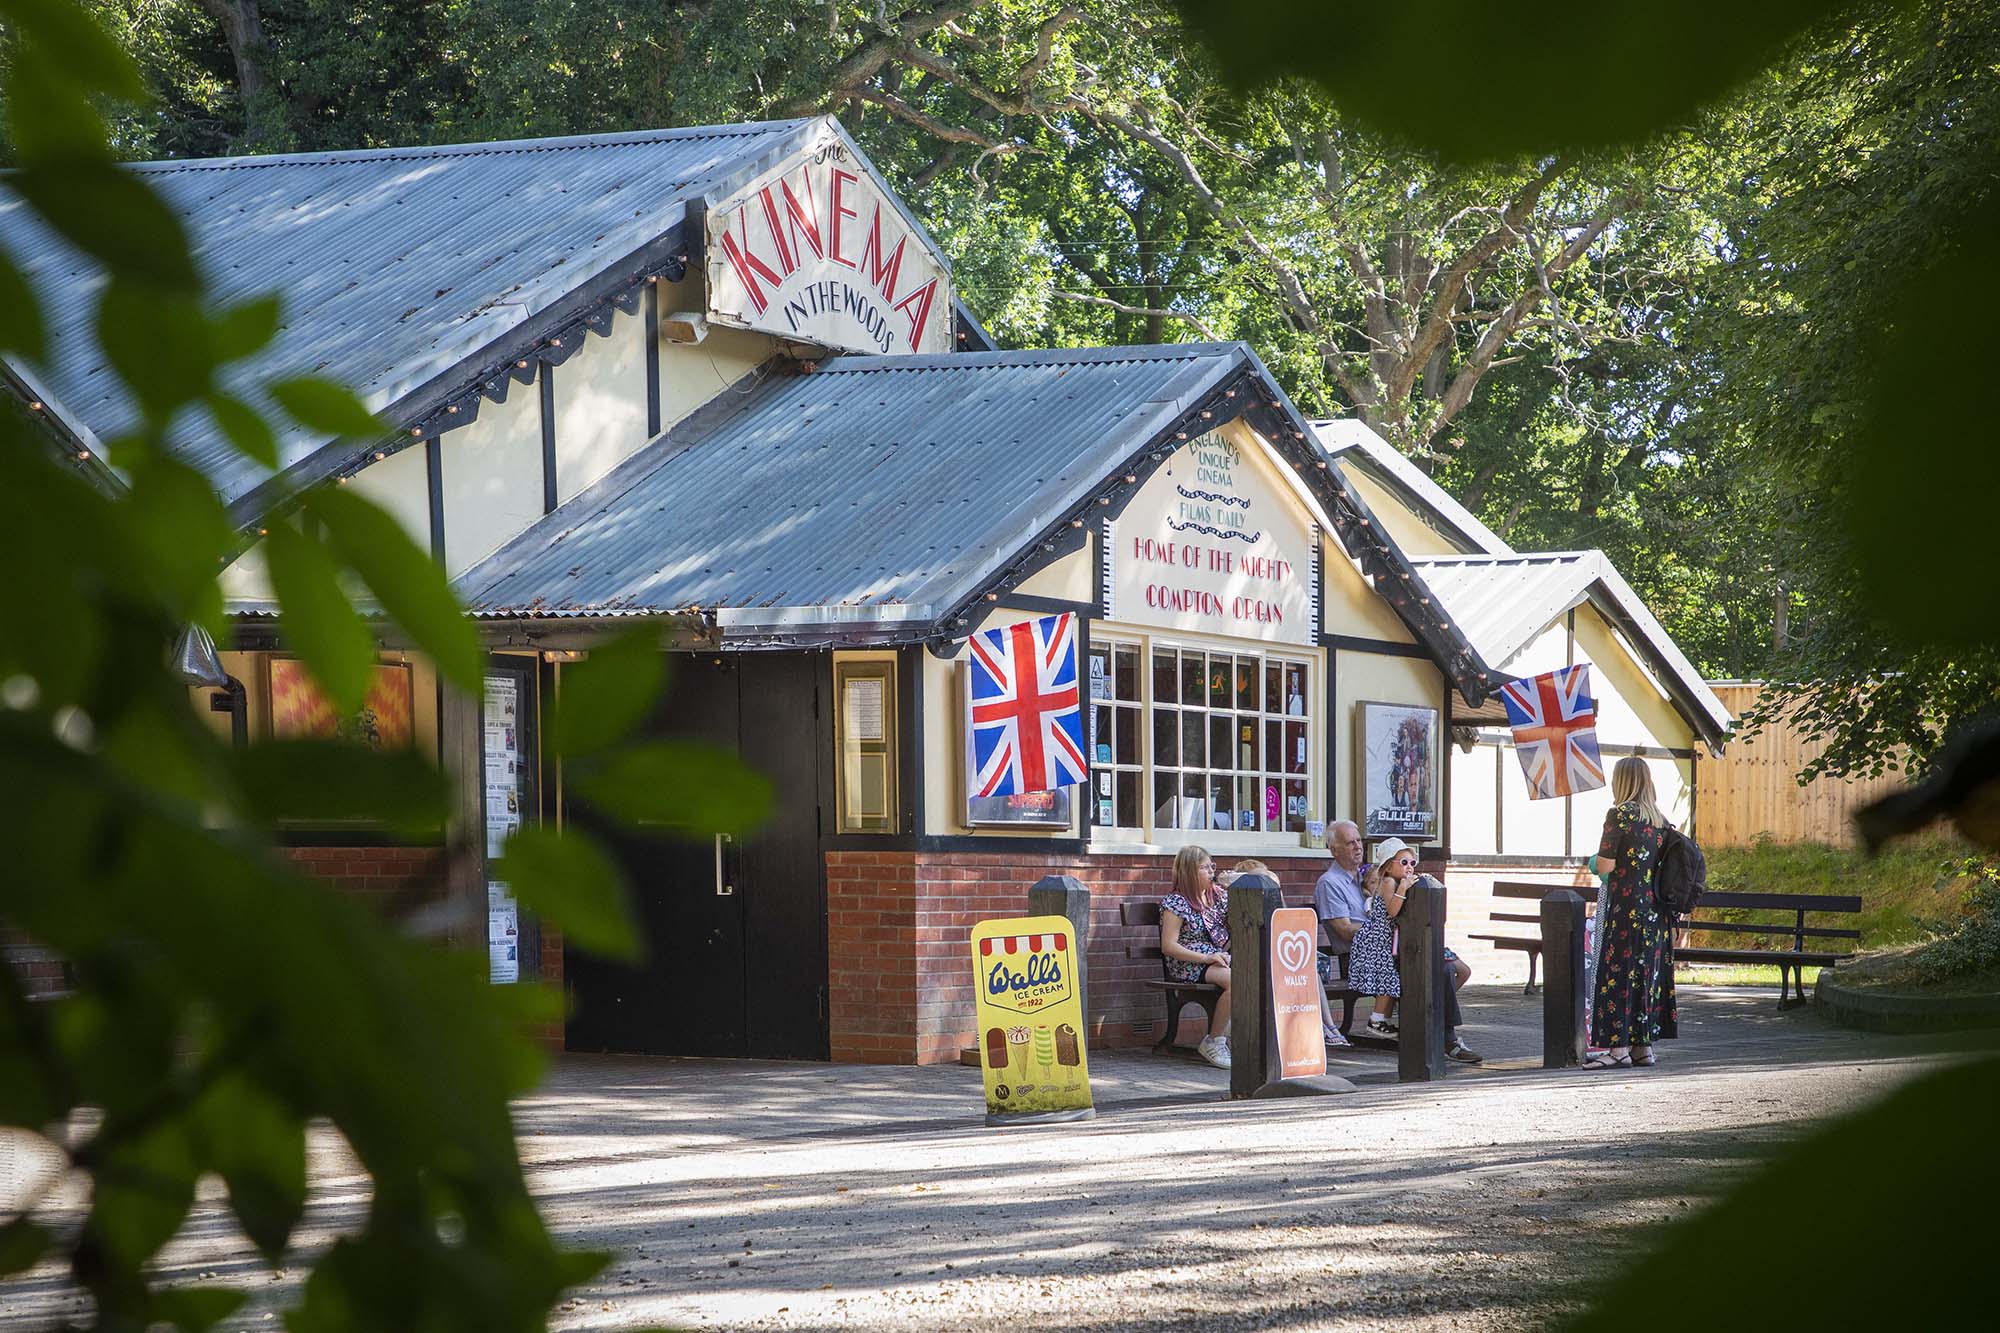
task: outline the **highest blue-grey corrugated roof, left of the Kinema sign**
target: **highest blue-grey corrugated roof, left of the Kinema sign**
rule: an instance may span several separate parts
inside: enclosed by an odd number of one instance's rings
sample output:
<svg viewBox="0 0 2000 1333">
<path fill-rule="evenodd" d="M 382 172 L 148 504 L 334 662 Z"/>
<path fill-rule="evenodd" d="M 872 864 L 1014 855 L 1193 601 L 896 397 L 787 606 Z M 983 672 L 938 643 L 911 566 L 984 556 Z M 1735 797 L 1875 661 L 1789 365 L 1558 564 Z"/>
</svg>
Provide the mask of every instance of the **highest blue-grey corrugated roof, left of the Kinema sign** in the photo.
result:
<svg viewBox="0 0 2000 1333">
<path fill-rule="evenodd" d="M 680 224 L 688 200 L 756 170 L 816 120 L 442 148 L 144 162 L 180 214 L 218 302 L 284 296 L 284 328 L 234 386 L 344 380 L 372 408 L 606 272 Z M 0 196 L 0 244 L 42 298 L 52 406 L 100 438 L 136 418 L 90 332 L 98 266 Z M 290 466 L 324 440 L 280 434 Z M 264 480 L 208 422 L 176 444 L 234 500 Z"/>
</svg>

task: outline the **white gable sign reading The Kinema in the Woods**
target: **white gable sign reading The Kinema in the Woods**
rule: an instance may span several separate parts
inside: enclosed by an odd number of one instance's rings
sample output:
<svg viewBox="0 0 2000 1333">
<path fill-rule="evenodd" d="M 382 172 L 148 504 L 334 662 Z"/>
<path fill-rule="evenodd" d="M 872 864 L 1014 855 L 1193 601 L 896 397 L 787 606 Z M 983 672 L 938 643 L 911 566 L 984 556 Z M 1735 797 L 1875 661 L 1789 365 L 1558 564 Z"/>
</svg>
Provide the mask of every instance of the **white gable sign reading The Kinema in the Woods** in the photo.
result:
<svg viewBox="0 0 2000 1333">
<path fill-rule="evenodd" d="M 850 352 L 948 352 L 952 276 L 834 138 L 710 204 L 708 318 Z"/>
</svg>

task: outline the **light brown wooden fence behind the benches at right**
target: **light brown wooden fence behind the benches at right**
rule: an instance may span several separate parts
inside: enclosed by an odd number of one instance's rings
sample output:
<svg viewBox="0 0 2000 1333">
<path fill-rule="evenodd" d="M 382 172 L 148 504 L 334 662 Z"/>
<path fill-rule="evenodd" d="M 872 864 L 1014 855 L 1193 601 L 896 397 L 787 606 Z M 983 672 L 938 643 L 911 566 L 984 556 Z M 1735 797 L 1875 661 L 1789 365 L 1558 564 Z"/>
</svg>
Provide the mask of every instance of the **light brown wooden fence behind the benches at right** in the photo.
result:
<svg viewBox="0 0 2000 1333">
<path fill-rule="evenodd" d="M 1760 685 L 1710 685 L 1732 717 L 1756 703 Z M 1694 765 L 1694 839 L 1704 847 L 1744 847 L 1760 835 L 1778 843 L 1854 845 L 1856 809 L 1902 785 L 1900 773 L 1880 779 L 1814 779 L 1798 785 L 1798 771 L 1826 745 L 1790 729 L 1766 731 L 1754 741 L 1730 741 L 1722 759 L 1702 755 Z"/>
</svg>

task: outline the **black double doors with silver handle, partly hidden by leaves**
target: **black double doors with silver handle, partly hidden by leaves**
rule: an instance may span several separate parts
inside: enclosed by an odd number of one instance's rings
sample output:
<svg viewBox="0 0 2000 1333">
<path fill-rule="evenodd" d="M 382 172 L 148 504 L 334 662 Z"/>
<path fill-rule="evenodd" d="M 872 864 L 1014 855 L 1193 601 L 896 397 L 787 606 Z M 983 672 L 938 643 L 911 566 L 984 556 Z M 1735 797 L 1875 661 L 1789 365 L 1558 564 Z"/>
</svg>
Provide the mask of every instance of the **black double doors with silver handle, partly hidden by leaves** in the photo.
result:
<svg viewBox="0 0 2000 1333">
<path fill-rule="evenodd" d="M 572 1051 L 826 1059 L 826 881 L 818 843 L 818 666 L 806 654 L 676 656 L 658 735 L 742 757 L 776 789 L 742 841 L 614 827 L 646 959 L 570 953 Z"/>
</svg>

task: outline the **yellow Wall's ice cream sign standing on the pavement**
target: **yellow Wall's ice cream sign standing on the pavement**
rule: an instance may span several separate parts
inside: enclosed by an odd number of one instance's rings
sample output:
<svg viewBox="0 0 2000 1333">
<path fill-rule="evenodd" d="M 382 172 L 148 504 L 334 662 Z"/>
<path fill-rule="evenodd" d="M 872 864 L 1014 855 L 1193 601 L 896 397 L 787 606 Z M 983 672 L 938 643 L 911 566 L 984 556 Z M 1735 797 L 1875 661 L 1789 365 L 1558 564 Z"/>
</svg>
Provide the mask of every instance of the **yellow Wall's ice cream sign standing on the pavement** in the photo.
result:
<svg viewBox="0 0 2000 1333">
<path fill-rule="evenodd" d="M 1094 1115 L 1074 947 L 1064 917 L 972 927 L 972 1009 L 988 1125 Z"/>
</svg>

